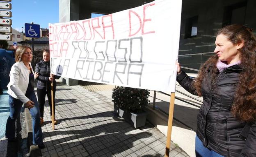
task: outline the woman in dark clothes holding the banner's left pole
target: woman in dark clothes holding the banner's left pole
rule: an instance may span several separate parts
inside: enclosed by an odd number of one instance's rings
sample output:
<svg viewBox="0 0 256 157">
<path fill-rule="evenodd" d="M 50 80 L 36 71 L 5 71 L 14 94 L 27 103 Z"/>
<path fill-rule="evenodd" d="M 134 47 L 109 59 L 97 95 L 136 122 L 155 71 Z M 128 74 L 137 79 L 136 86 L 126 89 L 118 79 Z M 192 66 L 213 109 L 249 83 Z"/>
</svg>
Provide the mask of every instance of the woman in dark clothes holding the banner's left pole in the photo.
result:
<svg viewBox="0 0 256 157">
<path fill-rule="evenodd" d="M 56 81 L 59 76 L 55 76 L 50 73 L 50 51 L 48 49 L 43 50 L 43 60 L 40 60 L 36 64 L 36 72 L 39 73 L 37 77 L 37 97 L 40 108 L 40 123 L 43 124 L 43 108 L 45 103 L 45 97 L 47 95 L 48 102 L 50 105 L 50 115 L 52 116 L 52 95 L 51 95 L 51 82 L 53 81 L 53 110 L 54 110 L 54 124 L 57 124 L 55 119 L 55 92 L 56 92 Z"/>
</svg>

